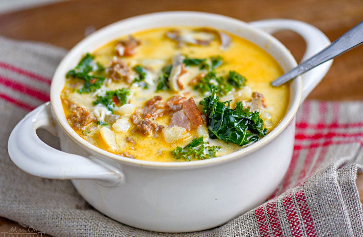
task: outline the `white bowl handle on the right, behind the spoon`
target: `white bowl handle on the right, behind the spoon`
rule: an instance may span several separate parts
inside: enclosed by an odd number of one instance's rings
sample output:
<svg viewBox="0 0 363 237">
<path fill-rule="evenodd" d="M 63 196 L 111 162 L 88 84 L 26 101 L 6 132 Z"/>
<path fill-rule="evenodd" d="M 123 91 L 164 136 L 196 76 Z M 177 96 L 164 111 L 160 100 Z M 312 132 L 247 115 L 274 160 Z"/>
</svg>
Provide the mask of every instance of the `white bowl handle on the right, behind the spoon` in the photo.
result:
<svg viewBox="0 0 363 237">
<path fill-rule="evenodd" d="M 270 34 L 281 30 L 292 30 L 301 35 L 306 42 L 306 51 L 302 57 L 302 62 L 326 48 L 326 46 L 330 44 L 330 40 L 323 32 L 321 32 L 321 30 L 302 21 L 271 19 L 253 21 L 249 24 Z M 315 86 L 317 86 L 318 83 L 323 79 L 332 63 L 333 60 L 329 60 L 322 65 L 319 65 L 316 68 L 302 74 L 303 89 L 300 103 L 306 99 L 307 95 L 309 95 Z"/>
</svg>

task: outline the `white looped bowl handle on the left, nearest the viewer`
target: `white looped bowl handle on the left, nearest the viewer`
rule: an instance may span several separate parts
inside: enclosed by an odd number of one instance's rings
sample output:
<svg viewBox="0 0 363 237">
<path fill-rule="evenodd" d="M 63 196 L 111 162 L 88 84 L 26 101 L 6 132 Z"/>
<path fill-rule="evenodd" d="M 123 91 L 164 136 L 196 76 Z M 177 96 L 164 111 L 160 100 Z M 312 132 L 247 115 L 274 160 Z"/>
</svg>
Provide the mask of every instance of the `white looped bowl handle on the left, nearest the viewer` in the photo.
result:
<svg viewBox="0 0 363 237">
<path fill-rule="evenodd" d="M 89 159 L 48 146 L 36 134 L 38 128 L 57 136 L 50 102 L 27 114 L 10 134 L 9 156 L 23 171 L 48 179 L 93 179 L 106 186 L 122 181 L 121 171 L 106 168 L 92 161 L 92 157 Z"/>
</svg>

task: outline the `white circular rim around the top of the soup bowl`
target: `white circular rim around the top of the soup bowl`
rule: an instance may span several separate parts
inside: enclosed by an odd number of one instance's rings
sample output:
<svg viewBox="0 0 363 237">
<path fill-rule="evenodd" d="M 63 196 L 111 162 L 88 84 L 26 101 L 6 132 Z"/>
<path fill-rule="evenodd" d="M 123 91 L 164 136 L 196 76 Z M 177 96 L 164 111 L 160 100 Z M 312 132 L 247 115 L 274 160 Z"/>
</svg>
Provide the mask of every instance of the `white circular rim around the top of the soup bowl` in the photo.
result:
<svg viewBox="0 0 363 237">
<path fill-rule="evenodd" d="M 243 27 L 245 29 L 250 30 L 254 34 L 257 34 L 260 37 L 264 37 L 266 40 L 269 41 L 270 44 L 276 46 L 279 48 L 279 51 L 281 51 L 284 54 L 284 59 L 287 61 L 289 66 L 292 68 L 297 65 L 297 62 L 295 61 L 295 58 L 292 56 L 290 51 L 276 38 L 274 38 L 272 35 L 262 31 L 261 29 L 255 28 L 252 25 L 249 25 L 248 23 L 245 23 L 244 21 L 234 19 L 232 17 L 218 15 L 214 13 L 206 13 L 206 12 L 194 12 L 194 11 L 168 11 L 168 12 L 156 12 L 156 13 L 149 13 L 139 16 L 130 17 L 121 21 L 117 21 L 113 24 L 107 25 L 94 33 L 90 34 L 89 36 L 85 37 L 83 40 L 78 42 L 62 59 L 60 64 L 58 65 L 53 78 L 52 83 L 50 86 L 50 103 L 52 107 L 52 115 L 57 120 L 58 125 L 62 128 L 63 131 L 65 131 L 66 135 L 72 139 L 74 142 L 76 142 L 79 146 L 82 148 L 87 149 L 87 153 L 95 153 L 98 155 L 105 156 L 107 158 L 111 158 L 114 161 L 117 162 L 123 162 L 130 165 L 136 165 L 136 166 L 142 166 L 142 167 L 164 167 L 164 168 L 187 168 L 187 167 L 202 167 L 202 166 L 210 166 L 219 164 L 221 162 L 227 162 L 234 159 L 240 159 L 243 158 L 246 155 L 251 154 L 257 149 L 260 149 L 266 144 L 272 142 L 272 140 L 276 139 L 278 135 L 281 134 L 282 131 L 285 130 L 285 128 L 290 124 L 291 120 L 293 120 L 297 109 L 300 104 L 301 96 L 302 96 L 302 80 L 301 76 L 294 79 L 293 82 L 290 83 L 290 98 L 289 98 L 289 104 L 287 105 L 287 109 L 285 112 L 284 117 L 281 119 L 281 121 L 277 124 L 277 126 L 269 132 L 263 139 L 260 139 L 258 142 L 250 144 L 247 147 L 244 147 L 243 149 L 240 149 L 238 151 L 234 151 L 232 153 L 218 156 L 213 159 L 206 159 L 206 160 L 196 160 L 193 162 L 152 162 L 152 161 L 145 161 L 145 160 L 136 160 L 136 159 L 130 159 L 125 158 L 120 155 L 113 154 L 111 152 L 105 151 L 101 148 L 98 148 L 91 143 L 87 142 L 81 136 L 79 136 L 73 129 L 70 127 L 69 123 L 67 122 L 67 119 L 64 116 L 64 111 L 62 108 L 62 103 L 60 99 L 60 89 L 57 85 L 57 78 L 64 78 L 65 71 L 64 68 L 66 65 L 69 65 L 70 62 L 74 64 L 75 58 L 78 58 L 77 62 L 79 61 L 79 58 L 81 58 L 81 53 L 79 51 L 82 51 L 83 48 L 85 48 L 87 45 L 90 45 L 92 42 L 97 41 L 99 38 L 105 37 L 104 35 L 107 34 L 107 32 L 114 32 L 119 30 L 122 25 L 126 24 L 132 24 L 132 23 L 141 23 L 145 22 L 147 20 L 151 19 L 181 19 L 183 17 L 194 17 L 199 18 L 207 21 L 223 21 L 225 24 L 232 24 L 236 26 Z M 185 19 L 184 19 L 185 20 Z M 173 24 L 176 25 L 176 24 Z M 183 25 L 183 24 L 179 24 Z M 184 24 L 185 25 L 185 24 Z M 196 24 L 195 24 L 196 25 Z M 172 26 L 172 25 L 170 25 Z M 199 25 L 196 25 L 199 26 Z M 145 27 L 144 29 L 150 29 L 150 28 L 156 28 L 157 26 L 149 26 Z M 222 28 L 223 29 L 223 28 Z M 141 29 L 135 30 L 140 31 Z M 125 33 L 119 34 L 119 37 L 122 35 L 125 35 Z M 111 40 L 114 40 L 114 38 L 108 39 L 106 42 L 109 42 Z M 250 40 L 249 40 L 250 41 Z M 253 41 L 252 41 L 253 42 Z M 256 44 L 255 42 L 253 42 Z M 99 46 L 102 46 L 102 44 L 99 44 Z M 94 47 L 94 49 L 96 49 Z M 277 60 L 275 58 L 275 60 Z M 67 67 L 68 69 L 70 67 Z M 286 71 L 286 70 L 285 70 Z M 64 79 L 65 80 L 65 79 Z M 63 85 L 64 86 L 64 85 Z M 62 86 L 62 88 L 63 88 Z M 61 88 L 61 89 L 62 89 Z M 293 93 L 293 91 L 295 93 Z"/>
</svg>

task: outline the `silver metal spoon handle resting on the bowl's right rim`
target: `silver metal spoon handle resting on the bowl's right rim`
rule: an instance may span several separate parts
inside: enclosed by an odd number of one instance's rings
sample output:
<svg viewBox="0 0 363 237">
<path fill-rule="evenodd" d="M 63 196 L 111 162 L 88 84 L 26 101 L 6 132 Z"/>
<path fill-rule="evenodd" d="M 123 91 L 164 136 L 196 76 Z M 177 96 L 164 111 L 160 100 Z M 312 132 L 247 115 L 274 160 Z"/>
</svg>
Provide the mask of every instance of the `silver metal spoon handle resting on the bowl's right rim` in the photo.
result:
<svg viewBox="0 0 363 237">
<path fill-rule="evenodd" d="M 363 42 L 363 21 L 354 26 L 348 32 L 340 36 L 337 40 L 321 50 L 313 57 L 305 60 L 299 64 L 296 68 L 291 69 L 281 77 L 278 77 L 271 84 L 273 86 L 280 86 L 287 81 L 297 77 L 298 75 L 309 71 L 312 68 L 326 62 L 332 58 L 339 56 L 342 53 L 362 44 Z"/>
</svg>

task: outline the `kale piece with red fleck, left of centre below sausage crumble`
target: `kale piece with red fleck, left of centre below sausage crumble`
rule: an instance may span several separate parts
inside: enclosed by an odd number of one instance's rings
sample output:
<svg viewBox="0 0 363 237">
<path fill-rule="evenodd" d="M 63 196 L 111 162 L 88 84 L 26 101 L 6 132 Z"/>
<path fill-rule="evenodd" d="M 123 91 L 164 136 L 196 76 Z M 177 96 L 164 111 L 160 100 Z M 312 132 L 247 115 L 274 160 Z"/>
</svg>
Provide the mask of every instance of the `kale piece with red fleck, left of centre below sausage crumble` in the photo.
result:
<svg viewBox="0 0 363 237">
<path fill-rule="evenodd" d="M 93 101 L 93 105 L 102 104 L 108 110 L 113 111 L 115 106 L 122 106 L 127 103 L 127 95 L 130 95 L 129 89 L 119 89 L 113 91 L 106 91 L 105 96 L 97 95 L 97 100 Z"/>
</svg>

